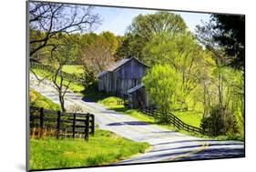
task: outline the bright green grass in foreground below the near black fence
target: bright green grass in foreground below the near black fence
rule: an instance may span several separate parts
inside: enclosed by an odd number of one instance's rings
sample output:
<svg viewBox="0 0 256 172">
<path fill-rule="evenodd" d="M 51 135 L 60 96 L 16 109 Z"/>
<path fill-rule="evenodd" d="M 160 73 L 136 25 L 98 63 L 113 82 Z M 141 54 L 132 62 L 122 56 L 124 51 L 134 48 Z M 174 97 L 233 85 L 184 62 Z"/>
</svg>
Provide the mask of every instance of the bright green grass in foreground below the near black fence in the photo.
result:
<svg viewBox="0 0 256 172">
<path fill-rule="evenodd" d="M 88 142 L 79 138 L 31 138 L 29 167 L 47 169 L 106 165 L 144 153 L 148 147 L 148 143 L 133 142 L 104 130 L 97 130 Z"/>
</svg>

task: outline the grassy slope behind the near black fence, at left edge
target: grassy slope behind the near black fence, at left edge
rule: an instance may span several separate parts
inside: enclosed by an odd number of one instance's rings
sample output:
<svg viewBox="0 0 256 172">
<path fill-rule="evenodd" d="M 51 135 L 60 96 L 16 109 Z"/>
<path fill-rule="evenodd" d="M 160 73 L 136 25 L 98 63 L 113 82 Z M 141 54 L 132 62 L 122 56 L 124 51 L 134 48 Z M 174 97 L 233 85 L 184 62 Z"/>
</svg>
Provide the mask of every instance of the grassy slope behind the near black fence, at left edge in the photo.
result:
<svg viewBox="0 0 256 172">
<path fill-rule="evenodd" d="M 46 109 L 52 110 L 60 110 L 60 106 L 48 98 L 46 96 L 41 95 L 40 93 L 36 92 L 36 90 L 29 88 L 29 103 L 31 106 L 39 106 L 44 107 Z"/>
</svg>

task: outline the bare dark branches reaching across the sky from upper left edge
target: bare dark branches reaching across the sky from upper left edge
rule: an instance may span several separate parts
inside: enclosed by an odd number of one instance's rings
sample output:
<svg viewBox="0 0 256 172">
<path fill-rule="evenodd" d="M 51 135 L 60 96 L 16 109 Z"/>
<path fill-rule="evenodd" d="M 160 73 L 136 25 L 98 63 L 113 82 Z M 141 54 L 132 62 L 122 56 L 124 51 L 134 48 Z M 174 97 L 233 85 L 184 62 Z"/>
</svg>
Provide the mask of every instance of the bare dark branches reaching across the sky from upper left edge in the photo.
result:
<svg viewBox="0 0 256 172">
<path fill-rule="evenodd" d="M 40 36 L 30 36 L 30 57 L 46 46 L 55 48 L 50 40 L 58 33 L 86 32 L 99 23 L 91 6 L 29 2 L 30 30 L 42 32 Z"/>
</svg>

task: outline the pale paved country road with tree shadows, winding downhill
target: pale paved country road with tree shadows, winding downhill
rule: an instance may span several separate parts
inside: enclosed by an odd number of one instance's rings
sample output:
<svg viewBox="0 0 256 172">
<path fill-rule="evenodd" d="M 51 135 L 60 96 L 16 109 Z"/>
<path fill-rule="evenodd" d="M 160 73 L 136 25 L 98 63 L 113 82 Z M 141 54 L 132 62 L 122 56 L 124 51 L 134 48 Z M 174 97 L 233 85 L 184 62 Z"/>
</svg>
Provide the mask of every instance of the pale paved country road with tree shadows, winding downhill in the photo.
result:
<svg viewBox="0 0 256 172">
<path fill-rule="evenodd" d="M 30 76 L 30 81 L 30 86 L 36 91 L 58 103 L 58 96 L 50 83 L 45 81 L 38 85 L 33 75 Z M 148 142 L 152 146 L 152 149 L 145 154 L 115 164 L 244 157 L 243 142 L 189 137 L 109 110 L 95 102 L 83 101 L 82 98 L 82 96 L 77 96 L 69 91 L 66 96 L 66 106 L 79 105 L 83 107 L 83 111 L 95 115 L 99 128 L 112 131 L 134 141 Z"/>
</svg>

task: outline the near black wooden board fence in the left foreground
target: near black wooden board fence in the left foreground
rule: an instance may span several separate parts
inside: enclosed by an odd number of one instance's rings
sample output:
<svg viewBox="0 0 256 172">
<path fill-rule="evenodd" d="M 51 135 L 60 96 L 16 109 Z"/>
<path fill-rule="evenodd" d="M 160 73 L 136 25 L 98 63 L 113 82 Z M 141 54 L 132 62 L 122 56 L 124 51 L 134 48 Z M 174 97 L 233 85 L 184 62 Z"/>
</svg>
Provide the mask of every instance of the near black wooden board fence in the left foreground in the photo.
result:
<svg viewBox="0 0 256 172">
<path fill-rule="evenodd" d="M 88 140 L 89 135 L 95 133 L 95 118 L 88 113 L 63 113 L 30 106 L 30 128 L 39 128 L 41 131 L 52 129 L 56 138 L 83 136 Z M 39 135 L 42 137 L 42 132 Z"/>
</svg>

